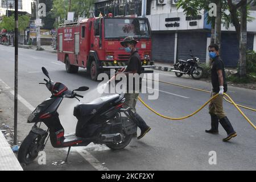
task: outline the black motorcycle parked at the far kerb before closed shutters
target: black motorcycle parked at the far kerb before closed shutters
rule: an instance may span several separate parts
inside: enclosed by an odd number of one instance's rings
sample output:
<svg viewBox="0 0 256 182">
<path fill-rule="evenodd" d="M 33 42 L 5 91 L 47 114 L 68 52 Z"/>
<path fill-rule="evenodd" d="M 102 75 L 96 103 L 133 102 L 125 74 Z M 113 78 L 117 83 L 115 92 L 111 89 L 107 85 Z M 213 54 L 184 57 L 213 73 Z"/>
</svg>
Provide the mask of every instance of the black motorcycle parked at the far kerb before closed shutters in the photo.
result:
<svg viewBox="0 0 256 182">
<path fill-rule="evenodd" d="M 190 52 L 192 52 L 190 50 Z M 172 72 L 175 72 L 177 77 L 181 77 L 183 75 L 191 75 L 193 79 L 199 80 L 203 77 L 204 69 L 200 67 L 198 64 L 200 59 L 192 54 L 189 54 L 192 59 L 188 59 L 187 61 L 179 59 L 178 63 L 174 64 L 174 69 Z"/>
</svg>

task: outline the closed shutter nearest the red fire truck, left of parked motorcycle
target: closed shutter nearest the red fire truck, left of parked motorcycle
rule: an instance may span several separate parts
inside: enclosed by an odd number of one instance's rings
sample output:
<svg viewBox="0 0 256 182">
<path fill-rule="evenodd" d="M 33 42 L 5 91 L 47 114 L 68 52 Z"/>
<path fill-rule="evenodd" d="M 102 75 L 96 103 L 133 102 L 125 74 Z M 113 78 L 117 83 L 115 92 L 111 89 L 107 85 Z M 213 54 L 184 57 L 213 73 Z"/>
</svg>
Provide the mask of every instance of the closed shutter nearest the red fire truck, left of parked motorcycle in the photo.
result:
<svg viewBox="0 0 256 182">
<path fill-rule="evenodd" d="M 174 63 L 175 34 L 152 34 L 152 59 Z"/>
</svg>

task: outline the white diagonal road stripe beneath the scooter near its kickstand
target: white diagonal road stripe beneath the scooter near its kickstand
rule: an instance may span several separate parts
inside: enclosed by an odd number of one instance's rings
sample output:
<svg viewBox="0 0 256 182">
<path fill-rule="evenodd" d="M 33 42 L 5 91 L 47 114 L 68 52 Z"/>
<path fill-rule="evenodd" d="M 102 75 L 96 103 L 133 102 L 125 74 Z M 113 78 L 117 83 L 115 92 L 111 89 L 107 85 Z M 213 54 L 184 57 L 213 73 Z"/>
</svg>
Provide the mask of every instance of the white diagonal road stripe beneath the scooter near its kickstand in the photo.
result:
<svg viewBox="0 0 256 182">
<path fill-rule="evenodd" d="M 84 147 L 73 147 L 85 160 L 87 160 L 98 171 L 110 171 L 107 167 L 103 166 L 94 156 L 92 156 Z"/>
</svg>

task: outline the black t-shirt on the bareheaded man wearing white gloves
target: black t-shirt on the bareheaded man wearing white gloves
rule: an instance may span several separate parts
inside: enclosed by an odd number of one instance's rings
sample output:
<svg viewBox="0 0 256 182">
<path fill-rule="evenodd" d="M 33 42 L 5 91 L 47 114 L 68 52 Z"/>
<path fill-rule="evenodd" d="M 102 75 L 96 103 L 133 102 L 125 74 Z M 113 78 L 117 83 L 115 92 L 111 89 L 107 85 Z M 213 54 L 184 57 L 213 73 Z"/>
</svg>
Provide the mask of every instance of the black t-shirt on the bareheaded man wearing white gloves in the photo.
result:
<svg viewBox="0 0 256 182">
<path fill-rule="evenodd" d="M 220 92 L 220 82 L 218 81 L 218 70 L 222 70 L 222 75 L 224 79 L 224 92 L 228 91 L 228 85 L 226 84 L 226 73 L 224 69 L 224 63 L 221 60 L 220 56 L 217 56 L 214 58 L 213 63 L 212 63 L 212 87 L 213 87 L 213 92 L 218 93 Z"/>
</svg>

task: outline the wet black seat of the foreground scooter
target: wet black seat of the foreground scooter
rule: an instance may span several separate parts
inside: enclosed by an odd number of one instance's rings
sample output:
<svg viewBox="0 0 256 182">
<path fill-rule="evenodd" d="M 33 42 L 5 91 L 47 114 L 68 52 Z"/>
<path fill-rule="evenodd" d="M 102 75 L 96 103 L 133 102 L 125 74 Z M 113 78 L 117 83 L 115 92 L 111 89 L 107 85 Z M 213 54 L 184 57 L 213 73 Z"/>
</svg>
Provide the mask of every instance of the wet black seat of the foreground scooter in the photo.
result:
<svg viewBox="0 0 256 182">
<path fill-rule="evenodd" d="M 114 94 L 111 96 L 97 98 L 96 100 L 89 102 L 87 104 L 79 104 L 74 107 L 73 115 L 77 117 L 77 119 L 79 119 L 90 114 L 96 114 L 97 111 L 100 110 L 105 104 L 117 101 L 118 99 L 119 94 Z"/>
</svg>

